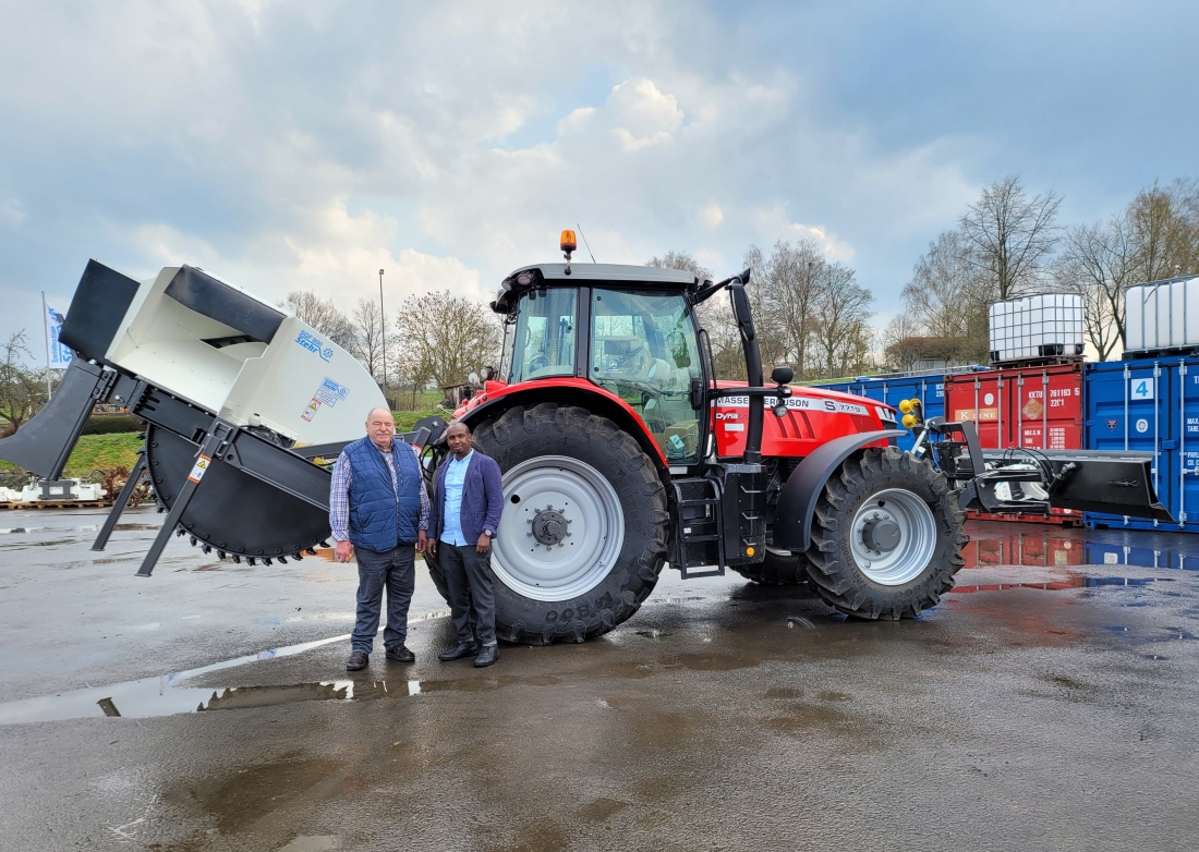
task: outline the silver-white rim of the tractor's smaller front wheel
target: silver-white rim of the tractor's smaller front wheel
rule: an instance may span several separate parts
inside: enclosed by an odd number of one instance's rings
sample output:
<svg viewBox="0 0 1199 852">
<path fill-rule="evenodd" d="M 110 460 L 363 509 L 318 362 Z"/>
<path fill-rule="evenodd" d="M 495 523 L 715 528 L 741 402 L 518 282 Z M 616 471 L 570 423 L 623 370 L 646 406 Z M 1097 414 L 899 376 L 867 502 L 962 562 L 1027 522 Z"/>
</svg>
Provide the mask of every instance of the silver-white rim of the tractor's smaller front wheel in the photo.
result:
<svg viewBox="0 0 1199 852">
<path fill-rule="evenodd" d="M 869 525 L 893 524 L 898 544 L 893 549 L 872 549 Z M 936 550 L 936 521 L 932 509 L 917 495 L 902 488 L 872 494 L 854 515 L 849 533 L 857 569 L 880 586 L 902 586 L 920 576 Z"/>
</svg>

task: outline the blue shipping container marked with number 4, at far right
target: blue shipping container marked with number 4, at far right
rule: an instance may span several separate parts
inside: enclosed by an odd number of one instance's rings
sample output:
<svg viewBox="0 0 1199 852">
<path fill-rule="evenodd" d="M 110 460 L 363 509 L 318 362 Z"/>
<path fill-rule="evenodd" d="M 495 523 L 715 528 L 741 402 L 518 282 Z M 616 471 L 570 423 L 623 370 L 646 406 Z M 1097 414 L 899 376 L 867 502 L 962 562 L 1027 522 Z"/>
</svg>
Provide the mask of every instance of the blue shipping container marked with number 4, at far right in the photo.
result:
<svg viewBox="0 0 1199 852">
<path fill-rule="evenodd" d="M 1153 488 L 1176 524 L 1087 512 L 1098 528 L 1199 532 L 1199 357 L 1086 365 L 1087 449 L 1153 453 Z"/>
</svg>

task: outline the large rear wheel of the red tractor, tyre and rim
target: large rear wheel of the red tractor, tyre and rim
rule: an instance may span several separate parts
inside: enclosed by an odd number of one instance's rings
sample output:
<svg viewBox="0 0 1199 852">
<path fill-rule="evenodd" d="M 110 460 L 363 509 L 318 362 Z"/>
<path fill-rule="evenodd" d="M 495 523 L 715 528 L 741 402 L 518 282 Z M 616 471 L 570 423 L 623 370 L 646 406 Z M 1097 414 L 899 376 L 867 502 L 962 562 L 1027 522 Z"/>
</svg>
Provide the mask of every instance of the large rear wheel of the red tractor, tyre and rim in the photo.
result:
<svg viewBox="0 0 1199 852">
<path fill-rule="evenodd" d="M 496 634 L 582 642 L 637 612 L 658 581 L 669 521 L 637 441 L 586 409 L 542 403 L 480 424 L 475 442 L 504 472 Z"/>
</svg>

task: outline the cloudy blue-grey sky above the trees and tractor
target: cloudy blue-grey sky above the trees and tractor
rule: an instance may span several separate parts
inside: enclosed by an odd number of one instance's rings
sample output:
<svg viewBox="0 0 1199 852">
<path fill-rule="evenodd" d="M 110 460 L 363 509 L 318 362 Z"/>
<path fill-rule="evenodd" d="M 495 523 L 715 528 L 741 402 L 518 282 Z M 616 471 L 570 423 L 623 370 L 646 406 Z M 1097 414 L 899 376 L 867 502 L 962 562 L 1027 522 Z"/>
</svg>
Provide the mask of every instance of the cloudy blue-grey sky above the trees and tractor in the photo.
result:
<svg viewBox="0 0 1199 852">
<path fill-rule="evenodd" d="M 40 351 L 89 256 L 347 307 L 382 267 L 390 310 L 576 223 L 721 274 L 811 237 L 881 325 L 1006 174 L 1066 223 L 1199 176 L 1197 34 L 1192 0 L 0 0 L 0 333 Z"/>
</svg>

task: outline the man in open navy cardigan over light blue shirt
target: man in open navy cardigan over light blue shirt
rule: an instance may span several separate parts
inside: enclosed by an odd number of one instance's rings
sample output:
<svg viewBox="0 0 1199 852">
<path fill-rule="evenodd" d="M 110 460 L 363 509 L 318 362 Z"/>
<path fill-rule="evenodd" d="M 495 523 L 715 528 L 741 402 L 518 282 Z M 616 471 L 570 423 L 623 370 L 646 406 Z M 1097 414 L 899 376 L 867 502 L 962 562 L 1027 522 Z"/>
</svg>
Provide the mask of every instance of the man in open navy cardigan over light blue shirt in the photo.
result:
<svg viewBox="0 0 1199 852">
<path fill-rule="evenodd" d="M 438 470 L 436 494 L 429 515 L 429 552 L 439 556 L 450 592 L 450 612 L 458 645 L 438 654 L 450 661 L 475 657 L 475 667 L 499 659 L 495 640 L 495 590 L 492 539 L 504 509 L 500 466 L 471 447 L 470 427 L 454 421 L 446 429 L 451 455 Z M 470 615 L 482 648 L 470 630 Z"/>
</svg>

